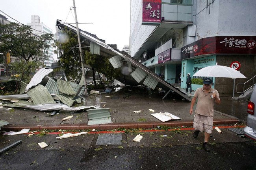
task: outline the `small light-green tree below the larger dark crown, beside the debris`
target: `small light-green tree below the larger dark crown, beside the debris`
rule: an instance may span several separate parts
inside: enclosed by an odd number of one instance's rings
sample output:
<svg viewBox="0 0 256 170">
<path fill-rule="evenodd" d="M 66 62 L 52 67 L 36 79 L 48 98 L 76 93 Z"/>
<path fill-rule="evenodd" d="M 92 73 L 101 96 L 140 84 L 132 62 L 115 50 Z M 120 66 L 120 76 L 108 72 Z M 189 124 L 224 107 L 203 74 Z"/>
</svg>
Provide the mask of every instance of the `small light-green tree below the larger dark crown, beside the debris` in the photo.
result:
<svg viewBox="0 0 256 170">
<path fill-rule="evenodd" d="M 30 82 L 33 73 L 35 73 L 40 66 L 43 66 L 43 62 L 20 60 L 20 62 L 11 63 L 10 71 L 12 77 L 18 78 L 16 81 L 17 86 L 15 92 L 18 91 L 21 81 L 26 82 L 27 84 Z M 32 73 L 32 75 L 30 75 L 30 73 Z M 19 75 L 19 77 L 16 75 Z"/>
</svg>

